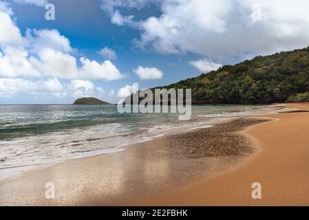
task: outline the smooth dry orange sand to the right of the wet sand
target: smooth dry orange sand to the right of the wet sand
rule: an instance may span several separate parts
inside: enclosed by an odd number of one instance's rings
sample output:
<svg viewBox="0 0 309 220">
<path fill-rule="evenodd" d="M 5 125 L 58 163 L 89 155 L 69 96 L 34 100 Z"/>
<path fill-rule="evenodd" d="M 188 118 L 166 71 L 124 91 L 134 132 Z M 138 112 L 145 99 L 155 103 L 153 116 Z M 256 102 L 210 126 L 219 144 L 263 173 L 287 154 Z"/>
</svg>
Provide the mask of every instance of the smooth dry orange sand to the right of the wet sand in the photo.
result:
<svg viewBox="0 0 309 220">
<path fill-rule="evenodd" d="M 309 103 L 286 104 L 309 109 Z M 244 166 L 213 179 L 136 198 L 123 205 L 154 206 L 309 206 L 309 113 L 270 115 L 276 121 L 246 129 L 260 151 Z M 262 199 L 251 185 L 262 184 Z"/>
</svg>

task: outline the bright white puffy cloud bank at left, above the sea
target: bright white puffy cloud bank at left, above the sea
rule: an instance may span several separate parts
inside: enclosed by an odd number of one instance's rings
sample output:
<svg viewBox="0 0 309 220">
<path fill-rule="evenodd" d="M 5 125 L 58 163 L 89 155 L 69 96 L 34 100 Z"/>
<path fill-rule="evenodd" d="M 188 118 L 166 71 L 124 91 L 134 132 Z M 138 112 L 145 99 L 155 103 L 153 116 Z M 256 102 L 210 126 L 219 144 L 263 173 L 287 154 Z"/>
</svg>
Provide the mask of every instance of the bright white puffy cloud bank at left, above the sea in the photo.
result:
<svg viewBox="0 0 309 220">
<path fill-rule="evenodd" d="M 111 61 L 98 63 L 81 57 L 78 63 L 70 40 L 58 30 L 27 30 L 23 37 L 4 6 L 0 7 L 0 76 L 107 81 L 124 78 Z"/>
</svg>

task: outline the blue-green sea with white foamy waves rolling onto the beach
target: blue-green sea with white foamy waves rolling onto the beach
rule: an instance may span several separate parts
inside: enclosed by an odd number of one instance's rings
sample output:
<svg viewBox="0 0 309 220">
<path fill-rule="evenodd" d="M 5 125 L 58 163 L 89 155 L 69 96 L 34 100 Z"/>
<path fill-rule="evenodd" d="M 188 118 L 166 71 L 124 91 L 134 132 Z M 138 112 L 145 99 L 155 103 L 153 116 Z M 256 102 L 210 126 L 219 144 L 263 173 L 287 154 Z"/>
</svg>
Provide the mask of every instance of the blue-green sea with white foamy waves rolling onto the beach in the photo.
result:
<svg viewBox="0 0 309 220">
<path fill-rule="evenodd" d="M 213 126 L 242 115 L 275 113 L 279 106 L 193 106 L 177 113 L 118 113 L 116 106 L 0 105 L 0 169 L 61 162 L 145 142 L 167 133 Z"/>
</svg>

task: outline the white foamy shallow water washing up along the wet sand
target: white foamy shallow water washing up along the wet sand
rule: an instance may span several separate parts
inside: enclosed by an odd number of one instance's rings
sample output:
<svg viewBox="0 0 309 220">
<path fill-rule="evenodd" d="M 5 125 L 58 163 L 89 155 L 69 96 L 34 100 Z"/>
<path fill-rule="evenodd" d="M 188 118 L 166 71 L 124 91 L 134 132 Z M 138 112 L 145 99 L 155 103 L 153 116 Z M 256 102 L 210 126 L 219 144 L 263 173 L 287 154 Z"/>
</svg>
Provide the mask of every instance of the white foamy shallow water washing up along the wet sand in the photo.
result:
<svg viewBox="0 0 309 220">
<path fill-rule="evenodd" d="M 124 151 L 123 146 L 147 142 L 170 133 L 192 131 L 213 126 L 217 122 L 246 115 L 265 115 L 286 111 L 281 105 L 254 107 L 253 109 L 231 107 L 232 110 L 198 109 L 193 111 L 193 121 L 164 121 L 162 118 L 147 122 L 134 120 L 129 123 L 98 124 L 95 126 L 64 130 L 21 137 L 15 140 L 1 140 L 0 168 L 61 162 L 105 153 Z M 218 108 L 220 109 L 220 108 Z M 213 113 L 213 111 L 217 111 Z M 153 116 L 151 116 L 153 117 Z M 158 116 L 159 117 L 159 116 Z M 162 117 L 165 117 L 164 115 Z M 174 117 L 177 118 L 177 117 Z M 164 118 L 163 118 L 164 119 Z M 125 120 L 125 119 L 124 119 Z"/>
</svg>

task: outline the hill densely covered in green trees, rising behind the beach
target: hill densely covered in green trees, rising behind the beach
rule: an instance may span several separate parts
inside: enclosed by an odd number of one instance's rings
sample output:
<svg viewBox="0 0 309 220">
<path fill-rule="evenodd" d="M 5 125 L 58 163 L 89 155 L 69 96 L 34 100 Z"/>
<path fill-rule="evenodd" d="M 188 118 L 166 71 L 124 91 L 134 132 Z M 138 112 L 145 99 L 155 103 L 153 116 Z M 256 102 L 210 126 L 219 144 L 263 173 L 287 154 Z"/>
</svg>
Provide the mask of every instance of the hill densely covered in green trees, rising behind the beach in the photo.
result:
<svg viewBox="0 0 309 220">
<path fill-rule="evenodd" d="M 309 47 L 226 65 L 160 89 L 192 89 L 193 104 L 309 101 Z"/>
</svg>

